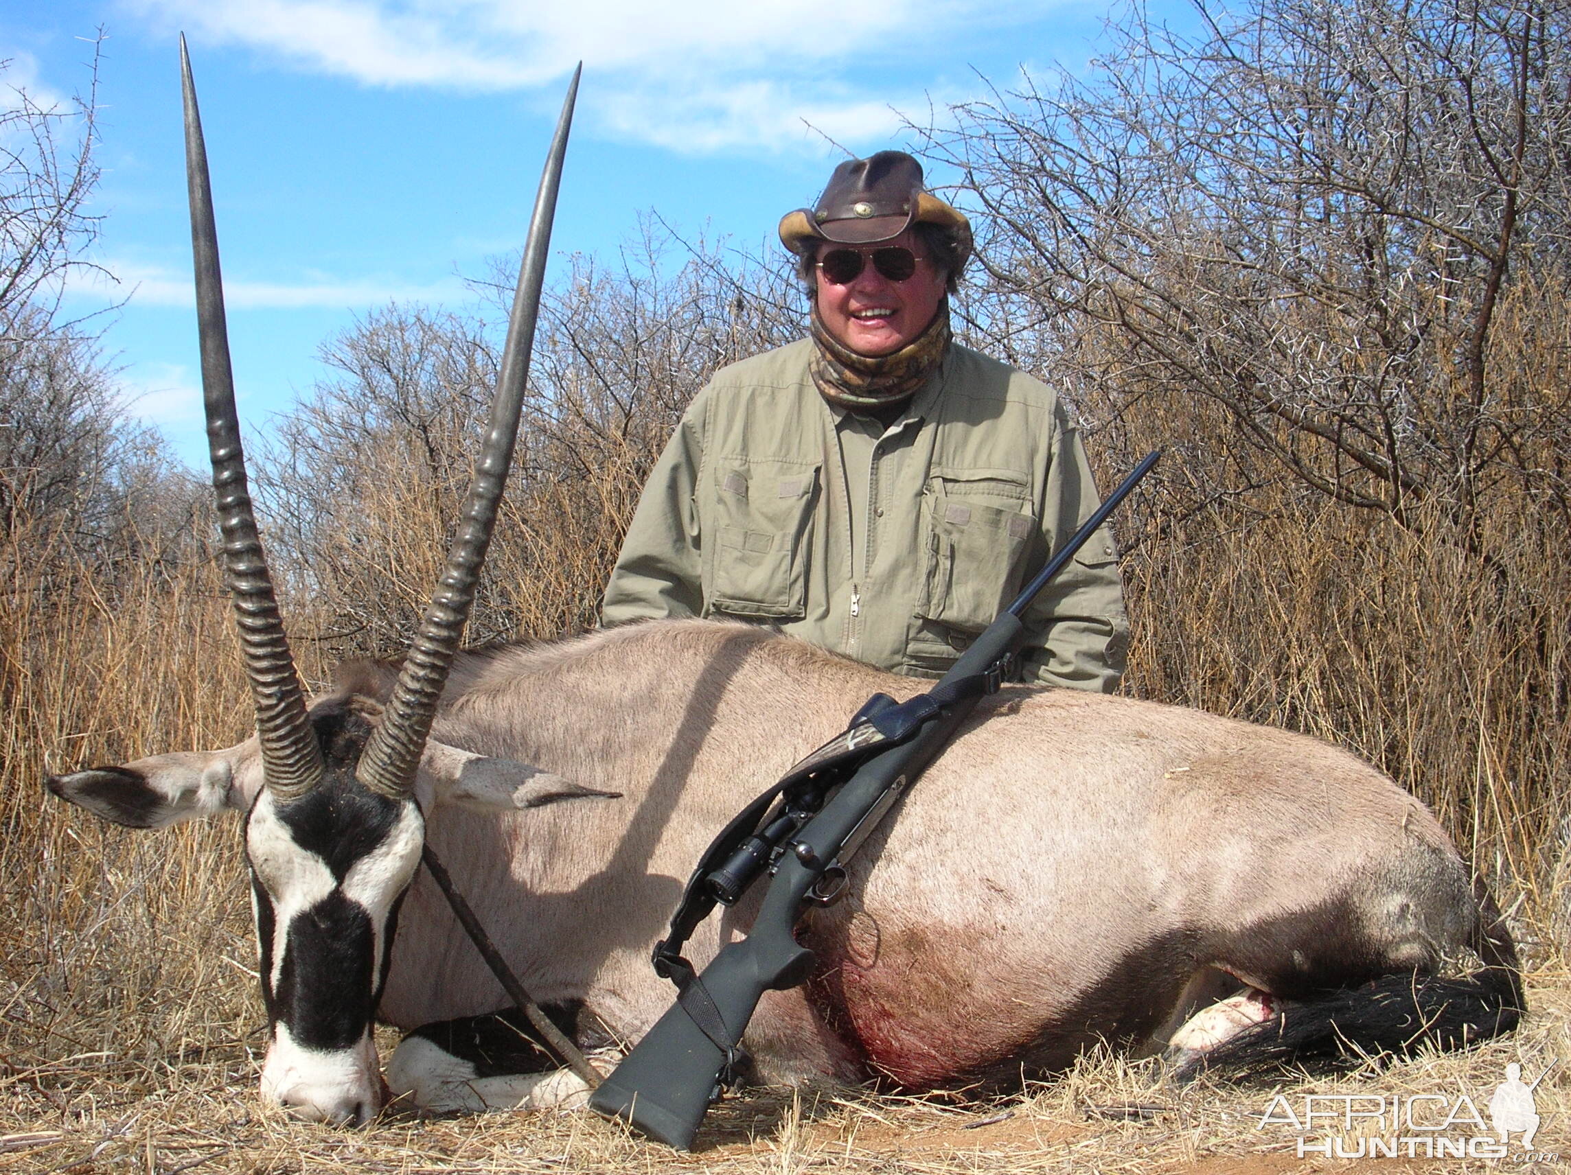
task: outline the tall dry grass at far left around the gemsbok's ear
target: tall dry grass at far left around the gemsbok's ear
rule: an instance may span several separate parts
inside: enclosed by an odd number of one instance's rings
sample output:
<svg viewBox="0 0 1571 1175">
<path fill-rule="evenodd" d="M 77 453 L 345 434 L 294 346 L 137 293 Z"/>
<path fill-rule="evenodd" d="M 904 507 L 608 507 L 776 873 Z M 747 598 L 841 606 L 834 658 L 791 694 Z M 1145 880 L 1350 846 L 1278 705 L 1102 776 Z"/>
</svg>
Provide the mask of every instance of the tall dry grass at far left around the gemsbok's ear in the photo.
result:
<svg viewBox="0 0 1571 1175">
<path fill-rule="evenodd" d="M 14 536 L 0 558 L 17 569 L 0 625 L 0 1133 L 13 1134 L 233 1051 L 256 1029 L 256 997 L 234 826 L 137 834 L 79 820 L 39 785 L 244 737 L 217 577 L 201 562 L 173 578 L 86 567 L 60 536 Z"/>
</svg>

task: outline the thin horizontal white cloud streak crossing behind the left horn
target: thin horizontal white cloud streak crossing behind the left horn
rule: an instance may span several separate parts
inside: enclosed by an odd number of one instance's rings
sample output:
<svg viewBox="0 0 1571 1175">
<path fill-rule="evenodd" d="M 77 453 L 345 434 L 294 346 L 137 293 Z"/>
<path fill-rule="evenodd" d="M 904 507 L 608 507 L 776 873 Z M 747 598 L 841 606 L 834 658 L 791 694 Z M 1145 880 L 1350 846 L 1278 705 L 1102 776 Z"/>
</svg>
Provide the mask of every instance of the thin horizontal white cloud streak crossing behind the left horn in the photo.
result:
<svg viewBox="0 0 1571 1175">
<path fill-rule="evenodd" d="M 126 262 L 101 262 L 105 273 L 88 272 L 71 287 L 85 302 L 126 300 L 132 306 L 195 306 L 190 272 Z M 118 283 L 118 284 L 116 284 Z M 457 278 L 426 286 L 390 281 L 339 281 L 314 278 L 298 283 L 225 278 L 223 303 L 229 309 L 357 309 L 386 302 L 460 302 L 468 291 Z"/>
</svg>

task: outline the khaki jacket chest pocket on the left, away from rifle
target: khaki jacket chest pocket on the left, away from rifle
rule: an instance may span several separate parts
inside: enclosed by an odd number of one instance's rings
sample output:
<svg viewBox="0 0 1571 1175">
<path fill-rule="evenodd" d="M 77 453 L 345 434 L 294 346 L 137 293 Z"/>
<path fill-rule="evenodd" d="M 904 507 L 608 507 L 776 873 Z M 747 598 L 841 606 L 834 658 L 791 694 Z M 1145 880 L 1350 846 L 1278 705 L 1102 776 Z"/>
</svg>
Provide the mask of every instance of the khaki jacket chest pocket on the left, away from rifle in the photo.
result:
<svg viewBox="0 0 1571 1175">
<path fill-rule="evenodd" d="M 818 467 L 716 470 L 715 553 L 705 614 L 773 620 L 807 611 Z"/>
</svg>

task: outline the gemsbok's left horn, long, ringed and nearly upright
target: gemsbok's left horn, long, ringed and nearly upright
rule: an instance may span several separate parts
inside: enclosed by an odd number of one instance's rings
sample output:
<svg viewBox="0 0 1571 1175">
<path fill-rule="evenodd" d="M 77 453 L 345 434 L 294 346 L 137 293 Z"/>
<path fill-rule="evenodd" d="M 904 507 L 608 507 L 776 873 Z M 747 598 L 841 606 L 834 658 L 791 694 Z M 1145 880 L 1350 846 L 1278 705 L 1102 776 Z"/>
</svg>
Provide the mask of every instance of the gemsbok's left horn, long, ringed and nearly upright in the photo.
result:
<svg viewBox="0 0 1571 1175">
<path fill-rule="evenodd" d="M 322 752 L 305 715 L 289 641 L 273 598 L 256 515 L 245 484 L 240 419 L 234 410 L 234 374 L 229 369 L 229 331 L 223 317 L 223 276 L 218 272 L 218 229 L 212 217 L 207 148 L 196 112 L 190 57 L 181 35 L 181 88 L 185 96 L 185 182 L 190 189 L 192 254 L 196 267 L 196 322 L 201 331 L 201 385 L 207 410 L 207 451 L 212 489 L 218 500 L 223 566 L 234 597 L 240 653 L 256 702 L 256 732 L 270 792 L 281 798 L 305 795 L 322 778 Z"/>
</svg>

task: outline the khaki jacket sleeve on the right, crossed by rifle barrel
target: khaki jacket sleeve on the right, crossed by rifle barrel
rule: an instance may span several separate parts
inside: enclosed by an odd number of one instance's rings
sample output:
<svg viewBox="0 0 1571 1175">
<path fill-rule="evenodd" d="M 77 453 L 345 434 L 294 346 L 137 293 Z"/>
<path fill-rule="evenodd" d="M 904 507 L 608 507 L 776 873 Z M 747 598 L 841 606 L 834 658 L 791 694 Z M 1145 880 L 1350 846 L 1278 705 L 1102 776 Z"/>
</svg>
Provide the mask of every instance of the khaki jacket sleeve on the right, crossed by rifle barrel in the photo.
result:
<svg viewBox="0 0 1571 1175">
<path fill-rule="evenodd" d="M 1040 503 L 1043 537 L 1053 553 L 1101 504 L 1079 432 L 1064 418 L 1062 408 L 1054 424 L 1053 463 Z M 1024 620 L 1024 680 L 1101 693 L 1119 688 L 1130 647 L 1130 620 L 1123 611 L 1119 550 L 1108 526 L 1042 589 Z"/>
</svg>

